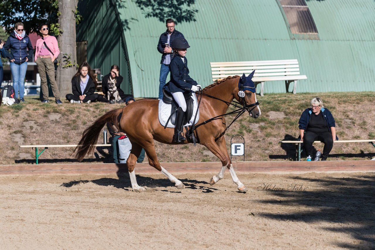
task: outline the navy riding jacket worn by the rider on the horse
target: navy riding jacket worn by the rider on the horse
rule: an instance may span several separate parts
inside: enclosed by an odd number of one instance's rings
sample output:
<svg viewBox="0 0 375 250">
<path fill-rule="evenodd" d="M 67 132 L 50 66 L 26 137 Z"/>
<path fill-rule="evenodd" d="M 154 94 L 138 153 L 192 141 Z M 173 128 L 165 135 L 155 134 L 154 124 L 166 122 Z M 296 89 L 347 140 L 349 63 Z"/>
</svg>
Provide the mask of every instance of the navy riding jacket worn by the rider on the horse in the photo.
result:
<svg viewBox="0 0 375 250">
<path fill-rule="evenodd" d="M 187 58 L 184 57 L 184 60 L 185 63 L 178 55 L 172 58 L 171 64 L 169 64 L 169 70 L 171 70 L 171 80 L 165 85 L 166 91 L 171 93 L 191 91 L 192 85 L 197 85 L 196 81 L 189 76 Z"/>
</svg>

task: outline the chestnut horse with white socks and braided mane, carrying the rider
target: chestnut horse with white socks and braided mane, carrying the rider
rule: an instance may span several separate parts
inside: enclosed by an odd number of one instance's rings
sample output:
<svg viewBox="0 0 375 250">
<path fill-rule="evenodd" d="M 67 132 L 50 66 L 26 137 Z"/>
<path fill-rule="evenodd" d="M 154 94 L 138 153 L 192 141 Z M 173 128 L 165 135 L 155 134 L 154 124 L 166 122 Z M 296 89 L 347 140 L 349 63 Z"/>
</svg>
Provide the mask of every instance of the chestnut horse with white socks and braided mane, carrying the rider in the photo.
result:
<svg viewBox="0 0 375 250">
<path fill-rule="evenodd" d="M 253 118 L 258 118 L 261 114 L 258 106 L 259 103 L 255 96 L 255 86 L 252 88 L 252 91 L 249 91 L 246 88 L 243 88 L 243 91 L 240 91 L 240 86 L 242 87 L 243 85 L 239 84 L 239 76 L 229 76 L 220 82 L 205 87 L 201 93 L 197 93 L 197 99 L 199 100 L 201 97 L 198 123 L 202 124 L 201 126 L 196 126 L 194 133 L 198 142 L 207 147 L 208 150 L 217 156 L 222 163 L 222 168 L 219 171 L 219 174 L 214 175 L 211 178 L 210 184 L 213 185 L 222 179 L 225 169 L 228 168 L 233 182 L 237 184 L 238 190 L 246 192 L 248 190 L 247 187 L 241 183 L 234 172 L 231 159 L 226 149 L 225 139 L 224 136 L 222 136 L 223 132 L 226 130 L 224 114 L 233 99 L 236 99 L 238 102 L 237 104 L 241 105 L 238 106 L 235 104 L 235 106 L 241 110 L 241 112 L 237 113 L 242 114 L 243 112 L 248 111 L 250 117 Z M 243 98 L 241 98 L 239 94 L 243 96 Z M 175 183 L 175 187 L 183 189 L 185 187 L 184 184 L 166 171 L 160 165 L 159 160 L 156 157 L 154 140 L 165 144 L 177 144 L 176 142 L 172 142 L 174 128 L 164 128 L 159 122 L 158 103 L 159 101 L 154 99 L 140 99 L 124 108 L 114 109 L 107 112 L 83 132 L 81 141 L 73 152 L 75 158 L 81 161 L 87 153 L 93 153 L 95 148 L 94 145 L 98 140 L 98 136 L 101 133 L 103 126 L 105 126 L 107 122 L 110 122 L 115 124 L 115 131 L 123 131 L 126 133 L 132 143 L 132 150 L 126 164 L 129 170 L 133 191 L 145 190 L 144 187 L 138 186 L 134 173 L 135 163 L 142 148 L 146 151 L 148 164 L 168 177 L 172 183 Z M 121 112 L 122 117 L 120 123 L 118 123 L 117 117 Z M 184 144 L 190 142 L 187 140 L 184 141 Z"/>
</svg>

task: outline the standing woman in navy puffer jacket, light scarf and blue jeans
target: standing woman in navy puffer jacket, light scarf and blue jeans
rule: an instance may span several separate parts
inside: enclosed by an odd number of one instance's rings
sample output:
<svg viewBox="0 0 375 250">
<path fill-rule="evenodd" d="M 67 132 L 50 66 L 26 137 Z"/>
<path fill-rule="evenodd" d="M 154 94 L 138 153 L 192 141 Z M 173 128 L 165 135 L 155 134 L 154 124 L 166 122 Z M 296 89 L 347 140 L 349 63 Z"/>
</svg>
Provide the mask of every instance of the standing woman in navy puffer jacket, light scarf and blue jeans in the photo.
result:
<svg viewBox="0 0 375 250">
<path fill-rule="evenodd" d="M 14 27 L 14 32 L 10 34 L 8 40 L 4 45 L 4 49 L 7 53 L 6 57 L 10 61 L 10 71 L 12 72 L 13 88 L 16 92 L 15 103 L 18 103 L 25 102 L 24 91 L 27 61 L 32 61 L 34 49 L 33 45 L 31 45 L 29 37 L 24 30 L 23 23 L 17 22 Z M 20 92 L 19 95 L 18 92 Z"/>
</svg>

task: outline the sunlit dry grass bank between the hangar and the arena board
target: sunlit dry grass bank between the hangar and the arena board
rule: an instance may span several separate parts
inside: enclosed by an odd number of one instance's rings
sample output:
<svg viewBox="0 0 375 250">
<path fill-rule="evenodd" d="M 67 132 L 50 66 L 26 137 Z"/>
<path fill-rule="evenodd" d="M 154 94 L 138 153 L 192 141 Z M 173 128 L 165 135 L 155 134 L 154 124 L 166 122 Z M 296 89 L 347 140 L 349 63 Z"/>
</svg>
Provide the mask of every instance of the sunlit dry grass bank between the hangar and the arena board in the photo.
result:
<svg viewBox="0 0 375 250">
<path fill-rule="evenodd" d="M 245 160 L 269 161 L 290 160 L 293 158 L 293 145 L 280 145 L 279 141 L 299 136 L 298 120 L 302 111 L 310 105 L 313 97 L 320 97 L 324 106 L 333 113 L 339 139 L 375 138 L 375 92 L 360 93 L 302 93 L 302 94 L 265 94 L 258 96 L 262 111 L 258 119 L 243 114 L 226 132 L 225 139 L 230 153 L 230 141 L 233 135 L 245 138 Z M 30 154 L 31 148 L 19 148 L 15 138 L 23 138 L 23 145 L 37 144 L 77 144 L 82 132 L 89 124 L 105 112 L 120 107 L 105 103 L 73 105 L 65 102 L 43 104 L 36 97 L 27 96 L 26 104 L 0 107 L 0 133 L 2 154 L 1 164 L 30 163 L 23 160 L 22 154 Z M 233 109 L 233 108 L 230 108 Z M 229 109 L 229 110 L 230 110 Z M 270 117 L 269 112 L 284 114 L 284 118 Z M 55 119 L 52 119 L 57 117 Z M 227 124 L 234 116 L 226 117 Z M 52 120 L 51 120 L 52 119 Z M 31 126 L 35 124 L 36 126 Z M 99 142 L 102 136 L 99 136 Z M 233 142 L 240 142 L 239 136 Z M 316 145 L 317 149 L 323 145 Z M 99 162 L 111 162 L 108 149 L 96 151 L 87 156 Z M 321 148 L 323 149 L 323 148 Z M 40 162 L 66 163 L 72 159 L 73 148 L 49 148 L 40 156 Z M 205 147 L 197 145 L 165 145 L 156 142 L 156 151 L 160 162 L 207 162 L 218 161 Z M 375 157 L 375 148 L 371 144 L 335 144 L 328 160 L 366 160 Z M 147 160 L 147 158 L 145 159 Z M 243 160 L 233 156 L 232 160 Z"/>
</svg>

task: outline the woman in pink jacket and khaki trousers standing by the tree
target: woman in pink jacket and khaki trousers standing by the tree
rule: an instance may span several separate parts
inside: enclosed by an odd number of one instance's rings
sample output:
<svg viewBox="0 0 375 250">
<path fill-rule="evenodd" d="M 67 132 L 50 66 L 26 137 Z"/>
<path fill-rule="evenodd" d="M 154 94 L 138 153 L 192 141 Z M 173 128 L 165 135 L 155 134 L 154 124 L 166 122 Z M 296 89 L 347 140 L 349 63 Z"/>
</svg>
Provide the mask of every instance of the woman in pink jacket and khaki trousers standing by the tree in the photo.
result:
<svg viewBox="0 0 375 250">
<path fill-rule="evenodd" d="M 55 79 L 55 65 L 54 61 L 60 54 L 58 49 L 57 39 L 54 36 L 48 35 L 48 25 L 40 25 L 39 32 L 42 34 L 42 38 L 36 41 L 35 49 L 35 63 L 38 66 L 40 76 L 40 87 L 43 92 L 43 103 L 49 102 L 47 76 L 49 82 L 51 82 L 52 93 L 55 96 L 57 104 L 63 104 L 60 100 L 60 91 L 58 91 L 57 82 Z"/>
</svg>

